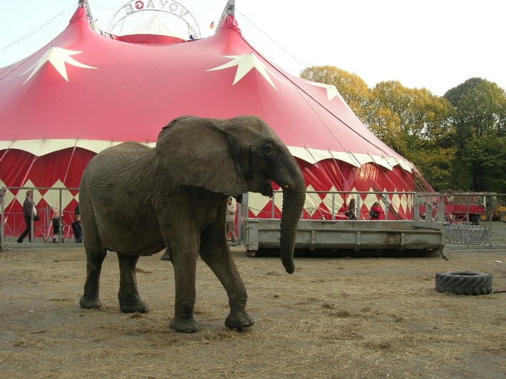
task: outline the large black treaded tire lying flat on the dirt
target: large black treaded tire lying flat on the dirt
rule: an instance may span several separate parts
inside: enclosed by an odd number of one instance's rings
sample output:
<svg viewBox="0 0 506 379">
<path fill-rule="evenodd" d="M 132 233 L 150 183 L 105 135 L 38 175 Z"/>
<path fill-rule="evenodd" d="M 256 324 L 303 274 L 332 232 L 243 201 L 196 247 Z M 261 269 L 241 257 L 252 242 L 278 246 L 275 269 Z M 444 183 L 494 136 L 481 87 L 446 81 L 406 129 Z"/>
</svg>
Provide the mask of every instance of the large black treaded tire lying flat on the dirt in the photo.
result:
<svg viewBox="0 0 506 379">
<path fill-rule="evenodd" d="M 492 274 L 476 271 L 443 271 L 435 274 L 435 290 L 456 295 L 487 295 L 492 292 Z"/>
</svg>

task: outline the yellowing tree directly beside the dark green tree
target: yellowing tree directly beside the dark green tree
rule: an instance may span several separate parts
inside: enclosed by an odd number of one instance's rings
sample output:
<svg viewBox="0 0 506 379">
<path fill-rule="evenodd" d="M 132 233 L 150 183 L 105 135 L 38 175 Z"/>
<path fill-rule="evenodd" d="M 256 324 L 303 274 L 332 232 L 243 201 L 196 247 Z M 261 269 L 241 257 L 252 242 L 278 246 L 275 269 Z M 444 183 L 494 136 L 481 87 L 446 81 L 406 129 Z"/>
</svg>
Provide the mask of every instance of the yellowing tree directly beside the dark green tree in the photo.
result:
<svg viewBox="0 0 506 379">
<path fill-rule="evenodd" d="M 413 162 L 435 190 L 454 187 L 455 109 L 425 88 L 398 81 L 376 84 L 368 124 L 378 137 Z"/>
</svg>

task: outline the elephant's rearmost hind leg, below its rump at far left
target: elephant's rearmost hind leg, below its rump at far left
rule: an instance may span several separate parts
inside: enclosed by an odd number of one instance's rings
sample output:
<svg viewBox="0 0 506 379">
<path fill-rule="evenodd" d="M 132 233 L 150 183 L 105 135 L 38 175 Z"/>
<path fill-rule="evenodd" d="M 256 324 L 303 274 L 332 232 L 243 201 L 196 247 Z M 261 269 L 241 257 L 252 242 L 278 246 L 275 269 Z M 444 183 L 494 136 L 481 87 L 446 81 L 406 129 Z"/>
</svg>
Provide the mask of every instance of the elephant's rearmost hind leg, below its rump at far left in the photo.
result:
<svg viewBox="0 0 506 379">
<path fill-rule="evenodd" d="M 103 260 L 107 251 L 105 249 L 96 249 L 91 251 L 86 249 L 86 282 L 84 284 L 84 294 L 79 300 L 79 305 L 84 309 L 102 308 L 98 293 L 100 288 L 100 272 L 102 271 Z"/>
</svg>

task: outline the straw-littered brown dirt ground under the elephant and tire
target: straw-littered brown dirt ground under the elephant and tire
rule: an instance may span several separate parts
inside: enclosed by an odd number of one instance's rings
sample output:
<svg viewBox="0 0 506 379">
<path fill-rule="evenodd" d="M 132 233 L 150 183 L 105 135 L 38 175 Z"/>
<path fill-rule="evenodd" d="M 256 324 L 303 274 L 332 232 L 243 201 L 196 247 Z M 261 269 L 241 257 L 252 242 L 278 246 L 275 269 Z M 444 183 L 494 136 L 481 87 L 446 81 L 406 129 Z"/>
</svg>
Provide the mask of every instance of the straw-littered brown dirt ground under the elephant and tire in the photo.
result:
<svg viewBox="0 0 506 379">
<path fill-rule="evenodd" d="M 224 327 L 227 296 L 197 268 L 202 331 L 168 328 L 170 262 L 141 257 L 145 314 L 119 311 L 118 262 L 103 267 L 100 310 L 83 310 L 82 247 L 0 253 L 0 373 L 4 378 L 505 378 L 506 250 L 445 249 L 426 258 L 234 256 L 248 289 L 246 331 Z M 482 296 L 440 294 L 438 271 L 492 274 Z"/>
</svg>

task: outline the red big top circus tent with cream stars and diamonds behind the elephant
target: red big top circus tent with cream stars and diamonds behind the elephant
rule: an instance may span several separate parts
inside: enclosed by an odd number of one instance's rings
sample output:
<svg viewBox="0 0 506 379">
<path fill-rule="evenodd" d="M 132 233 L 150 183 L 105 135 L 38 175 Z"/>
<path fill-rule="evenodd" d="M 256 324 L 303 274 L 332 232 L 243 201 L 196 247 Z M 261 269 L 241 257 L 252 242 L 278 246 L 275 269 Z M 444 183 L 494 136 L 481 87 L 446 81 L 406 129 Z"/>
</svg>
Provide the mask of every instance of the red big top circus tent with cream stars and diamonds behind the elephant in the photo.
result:
<svg viewBox="0 0 506 379">
<path fill-rule="evenodd" d="M 258 115 L 289 146 L 310 191 L 415 187 L 415 167 L 378 140 L 336 88 L 267 61 L 232 14 L 196 41 L 136 40 L 94 31 L 81 5 L 51 43 L 0 68 L 0 186 L 65 187 L 61 205 L 73 210 L 73 189 L 91 157 L 124 141 L 154 146 L 161 128 L 180 115 Z M 21 212 L 24 192 L 6 193 L 6 211 Z M 57 191 L 36 190 L 34 197 L 39 208 L 60 201 Z M 376 200 L 363 194 L 362 214 Z M 393 194 L 390 202 L 411 217 L 410 195 Z M 250 215 L 267 217 L 268 203 L 250 194 Z M 330 195 L 308 194 L 306 208 L 312 211 L 305 217 L 329 218 Z M 14 234 L 24 228 L 17 224 Z"/>
</svg>

